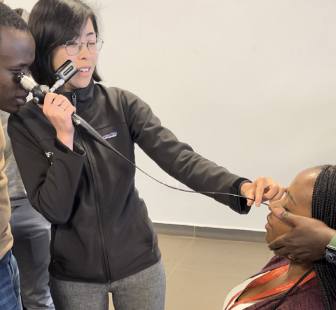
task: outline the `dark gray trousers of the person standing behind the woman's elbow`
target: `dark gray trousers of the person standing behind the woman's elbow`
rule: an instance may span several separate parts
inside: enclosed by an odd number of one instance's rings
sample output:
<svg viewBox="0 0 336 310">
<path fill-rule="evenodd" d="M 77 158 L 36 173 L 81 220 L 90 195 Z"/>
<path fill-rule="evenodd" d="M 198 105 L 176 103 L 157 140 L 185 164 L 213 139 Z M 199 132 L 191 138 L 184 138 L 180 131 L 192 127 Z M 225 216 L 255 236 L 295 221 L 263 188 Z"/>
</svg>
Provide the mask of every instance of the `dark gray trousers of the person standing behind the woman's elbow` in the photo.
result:
<svg viewBox="0 0 336 310">
<path fill-rule="evenodd" d="M 50 223 L 27 203 L 12 207 L 10 229 L 24 306 L 27 310 L 55 309 L 48 286 Z"/>
</svg>

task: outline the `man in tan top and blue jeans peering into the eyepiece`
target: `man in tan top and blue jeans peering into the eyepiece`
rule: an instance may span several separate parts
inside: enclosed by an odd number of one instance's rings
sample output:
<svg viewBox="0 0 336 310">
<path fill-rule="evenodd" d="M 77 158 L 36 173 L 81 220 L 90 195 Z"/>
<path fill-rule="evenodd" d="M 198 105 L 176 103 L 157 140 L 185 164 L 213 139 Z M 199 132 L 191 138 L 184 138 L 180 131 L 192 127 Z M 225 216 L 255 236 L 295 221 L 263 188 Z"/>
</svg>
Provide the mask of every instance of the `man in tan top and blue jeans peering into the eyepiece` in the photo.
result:
<svg viewBox="0 0 336 310">
<path fill-rule="evenodd" d="M 27 24 L 0 0 L 0 109 L 16 113 L 25 105 L 28 92 L 15 80 L 20 72 L 29 74 L 35 58 L 35 43 Z M 48 93 L 45 102 L 60 95 Z M 65 100 L 65 97 L 63 97 Z M 0 125 L 0 309 L 20 310 L 18 265 L 12 255 L 13 236 L 10 231 L 10 202 L 7 179 L 3 174 L 5 137 Z M 8 268 L 10 266 L 10 268 Z"/>
</svg>

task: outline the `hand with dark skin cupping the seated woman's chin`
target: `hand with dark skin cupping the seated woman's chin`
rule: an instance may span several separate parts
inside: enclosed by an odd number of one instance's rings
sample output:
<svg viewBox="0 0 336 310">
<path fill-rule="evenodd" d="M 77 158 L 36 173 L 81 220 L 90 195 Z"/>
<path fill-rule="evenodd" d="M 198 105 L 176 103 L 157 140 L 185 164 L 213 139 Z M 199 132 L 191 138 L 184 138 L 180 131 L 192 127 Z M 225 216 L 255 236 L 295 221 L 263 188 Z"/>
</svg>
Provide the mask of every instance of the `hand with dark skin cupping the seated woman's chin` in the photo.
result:
<svg viewBox="0 0 336 310">
<path fill-rule="evenodd" d="M 279 220 L 293 227 L 291 231 L 269 243 L 269 249 L 276 255 L 290 255 L 295 262 L 321 260 L 325 257 L 325 247 L 336 231 L 323 222 L 310 217 L 293 215 L 281 208 L 272 208 Z"/>
</svg>

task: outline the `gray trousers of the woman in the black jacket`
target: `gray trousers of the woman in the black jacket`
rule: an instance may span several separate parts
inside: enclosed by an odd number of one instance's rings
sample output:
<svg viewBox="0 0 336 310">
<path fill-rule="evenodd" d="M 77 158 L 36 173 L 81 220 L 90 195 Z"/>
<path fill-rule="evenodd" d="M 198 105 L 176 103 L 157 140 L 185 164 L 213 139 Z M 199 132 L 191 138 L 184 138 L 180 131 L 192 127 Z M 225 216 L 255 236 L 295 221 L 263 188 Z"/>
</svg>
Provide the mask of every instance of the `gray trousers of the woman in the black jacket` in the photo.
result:
<svg viewBox="0 0 336 310">
<path fill-rule="evenodd" d="M 56 310 L 108 310 L 112 293 L 116 310 L 164 310 L 165 269 L 158 262 L 143 271 L 112 283 L 82 283 L 50 276 Z"/>
</svg>

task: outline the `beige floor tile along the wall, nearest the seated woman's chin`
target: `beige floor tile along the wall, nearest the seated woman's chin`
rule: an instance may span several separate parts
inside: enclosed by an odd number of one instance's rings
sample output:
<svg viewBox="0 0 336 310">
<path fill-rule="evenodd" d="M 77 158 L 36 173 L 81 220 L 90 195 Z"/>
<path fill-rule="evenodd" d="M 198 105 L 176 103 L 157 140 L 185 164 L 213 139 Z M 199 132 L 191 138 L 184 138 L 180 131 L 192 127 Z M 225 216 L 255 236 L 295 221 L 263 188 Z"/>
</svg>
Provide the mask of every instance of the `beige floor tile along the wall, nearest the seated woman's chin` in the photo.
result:
<svg viewBox="0 0 336 310">
<path fill-rule="evenodd" d="M 195 238 L 176 269 L 251 276 L 269 260 L 267 245 Z"/>
</svg>

